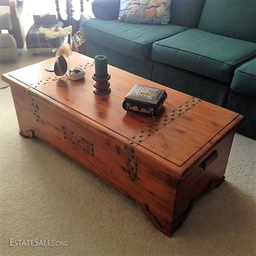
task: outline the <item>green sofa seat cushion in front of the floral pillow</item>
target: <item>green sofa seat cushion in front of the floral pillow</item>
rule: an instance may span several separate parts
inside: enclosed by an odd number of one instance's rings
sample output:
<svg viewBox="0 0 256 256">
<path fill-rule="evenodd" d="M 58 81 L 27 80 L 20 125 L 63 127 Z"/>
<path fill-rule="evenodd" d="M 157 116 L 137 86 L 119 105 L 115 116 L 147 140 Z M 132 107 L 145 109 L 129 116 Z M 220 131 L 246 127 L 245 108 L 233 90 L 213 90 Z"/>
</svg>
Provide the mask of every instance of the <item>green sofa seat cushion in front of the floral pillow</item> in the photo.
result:
<svg viewBox="0 0 256 256">
<path fill-rule="evenodd" d="M 185 29 L 171 24 L 131 24 L 118 20 L 90 19 L 82 23 L 86 40 L 140 60 L 150 59 L 153 42 Z"/>
</svg>

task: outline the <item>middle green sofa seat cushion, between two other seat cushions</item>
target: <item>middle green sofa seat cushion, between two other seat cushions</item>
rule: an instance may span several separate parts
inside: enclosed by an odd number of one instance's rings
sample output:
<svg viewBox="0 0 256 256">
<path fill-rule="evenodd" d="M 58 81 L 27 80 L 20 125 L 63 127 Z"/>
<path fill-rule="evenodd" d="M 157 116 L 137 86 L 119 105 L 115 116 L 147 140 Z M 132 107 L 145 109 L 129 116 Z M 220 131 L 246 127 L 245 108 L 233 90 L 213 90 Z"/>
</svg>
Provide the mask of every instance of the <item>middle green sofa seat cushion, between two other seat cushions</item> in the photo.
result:
<svg viewBox="0 0 256 256">
<path fill-rule="evenodd" d="M 155 42 L 152 60 L 230 83 L 236 67 L 256 55 L 256 44 L 200 29 Z"/>
</svg>

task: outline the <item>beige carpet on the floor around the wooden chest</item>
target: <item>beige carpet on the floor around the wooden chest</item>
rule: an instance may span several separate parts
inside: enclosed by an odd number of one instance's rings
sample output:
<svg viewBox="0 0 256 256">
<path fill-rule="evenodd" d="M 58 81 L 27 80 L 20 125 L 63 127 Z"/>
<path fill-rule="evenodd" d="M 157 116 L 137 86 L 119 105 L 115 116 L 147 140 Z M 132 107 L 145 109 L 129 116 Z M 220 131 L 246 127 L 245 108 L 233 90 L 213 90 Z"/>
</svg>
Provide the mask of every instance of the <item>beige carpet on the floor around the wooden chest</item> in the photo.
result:
<svg viewBox="0 0 256 256">
<path fill-rule="evenodd" d="M 23 57 L 16 66 L 40 59 Z M 236 134 L 226 181 L 168 238 L 127 196 L 46 143 L 19 136 L 10 88 L 0 90 L 0 122 L 1 256 L 256 255 L 256 141 Z M 10 246 L 11 238 L 67 246 Z"/>
</svg>

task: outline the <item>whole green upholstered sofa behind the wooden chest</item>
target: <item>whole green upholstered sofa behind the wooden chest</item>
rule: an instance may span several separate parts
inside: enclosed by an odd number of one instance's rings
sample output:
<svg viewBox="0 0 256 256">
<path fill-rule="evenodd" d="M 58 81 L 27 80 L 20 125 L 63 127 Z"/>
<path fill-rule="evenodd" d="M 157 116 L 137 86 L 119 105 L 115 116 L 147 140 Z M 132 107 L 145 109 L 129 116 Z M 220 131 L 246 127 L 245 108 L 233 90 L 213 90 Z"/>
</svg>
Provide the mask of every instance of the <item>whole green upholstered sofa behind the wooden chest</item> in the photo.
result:
<svg viewBox="0 0 256 256">
<path fill-rule="evenodd" d="M 172 0 L 168 25 L 119 22 L 120 0 L 95 0 L 81 31 L 88 56 L 245 116 L 256 139 L 256 1 Z"/>
</svg>

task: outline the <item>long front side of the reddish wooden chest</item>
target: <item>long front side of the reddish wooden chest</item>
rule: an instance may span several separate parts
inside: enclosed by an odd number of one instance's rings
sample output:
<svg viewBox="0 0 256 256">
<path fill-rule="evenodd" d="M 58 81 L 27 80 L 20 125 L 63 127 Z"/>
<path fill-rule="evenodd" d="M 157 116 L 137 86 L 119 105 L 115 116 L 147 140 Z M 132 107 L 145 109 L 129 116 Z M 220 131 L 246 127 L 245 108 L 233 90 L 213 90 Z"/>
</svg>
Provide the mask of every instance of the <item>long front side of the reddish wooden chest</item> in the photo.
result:
<svg viewBox="0 0 256 256">
<path fill-rule="evenodd" d="M 24 127 L 31 131 L 100 179 L 131 196 L 154 225 L 170 235 L 177 179 L 168 175 L 161 162 L 154 161 L 145 148 L 138 145 L 127 148 L 127 138 L 97 123 L 84 122 L 42 99 L 38 92 L 12 86 L 12 94 L 21 130 Z M 131 179 L 129 173 L 131 161 L 138 164 L 135 179 Z"/>
</svg>

